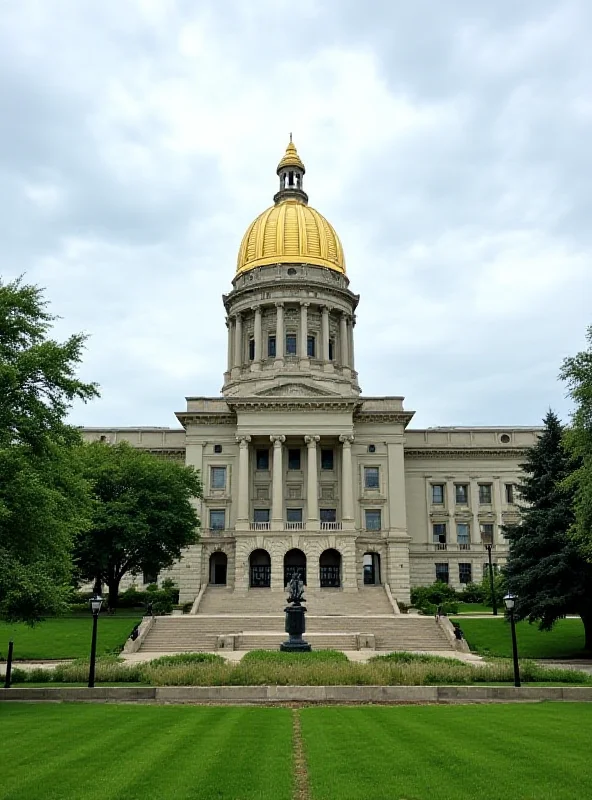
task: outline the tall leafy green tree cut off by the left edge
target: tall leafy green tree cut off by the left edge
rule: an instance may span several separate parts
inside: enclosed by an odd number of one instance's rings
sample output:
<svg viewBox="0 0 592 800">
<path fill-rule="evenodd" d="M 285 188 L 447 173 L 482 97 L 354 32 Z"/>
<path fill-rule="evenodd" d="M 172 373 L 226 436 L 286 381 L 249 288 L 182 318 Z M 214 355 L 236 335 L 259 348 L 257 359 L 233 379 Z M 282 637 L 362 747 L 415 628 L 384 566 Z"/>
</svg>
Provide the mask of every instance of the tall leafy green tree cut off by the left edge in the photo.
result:
<svg viewBox="0 0 592 800">
<path fill-rule="evenodd" d="M 85 337 L 48 338 L 42 290 L 0 281 L 0 618 L 33 622 L 64 608 L 74 536 L 90 500 L 75 464 L 72 402 L 98 394 L 76 377 Z"/>
</svg>

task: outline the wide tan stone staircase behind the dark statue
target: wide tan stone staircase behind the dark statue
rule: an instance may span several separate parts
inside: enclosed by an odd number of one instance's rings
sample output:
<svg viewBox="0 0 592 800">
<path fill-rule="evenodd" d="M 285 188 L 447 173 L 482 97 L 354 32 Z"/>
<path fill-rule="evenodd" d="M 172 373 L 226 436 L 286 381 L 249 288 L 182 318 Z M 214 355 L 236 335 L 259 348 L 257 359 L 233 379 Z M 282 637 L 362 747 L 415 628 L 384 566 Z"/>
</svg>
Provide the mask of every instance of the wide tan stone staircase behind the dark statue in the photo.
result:
<svg viewBox="0 0 592 800">
<path fill-rule="evenodd" d="M 224 587 L 208 587 L 197 614 L 156 617 L 141 650 L 277 650 L 287 638 L 285 604 L 283 592 L 250 590 L 238 596 Z M 431 617 L 394 615 L 380 586 L 352 593 L 308 592 L 306 607 L 306 638 L 316 650 L 452 650 Z"/>
</svg>

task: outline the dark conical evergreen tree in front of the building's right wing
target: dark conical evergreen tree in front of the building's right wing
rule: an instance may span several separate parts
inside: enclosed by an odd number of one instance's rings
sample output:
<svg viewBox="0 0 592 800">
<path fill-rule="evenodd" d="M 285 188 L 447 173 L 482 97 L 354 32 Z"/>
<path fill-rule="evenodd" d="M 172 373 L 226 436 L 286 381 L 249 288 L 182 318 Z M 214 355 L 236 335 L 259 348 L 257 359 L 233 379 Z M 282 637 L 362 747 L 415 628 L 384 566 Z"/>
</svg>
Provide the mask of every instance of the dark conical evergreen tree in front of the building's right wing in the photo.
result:
<svg viewBox="0 0 592 800">
<path fill-rule="evenodd" d="M 517 596 L 516 616 L 550 630 L 566 614 L 579 614 L 586 649 L 592 649 L 592 565 L 569 534 L 574 465 L 564 447 L 563 426 L 552 411 L 522 469 L 520 521 L 504 528 L 510 543 L 505 575 Z"/>
</svg>

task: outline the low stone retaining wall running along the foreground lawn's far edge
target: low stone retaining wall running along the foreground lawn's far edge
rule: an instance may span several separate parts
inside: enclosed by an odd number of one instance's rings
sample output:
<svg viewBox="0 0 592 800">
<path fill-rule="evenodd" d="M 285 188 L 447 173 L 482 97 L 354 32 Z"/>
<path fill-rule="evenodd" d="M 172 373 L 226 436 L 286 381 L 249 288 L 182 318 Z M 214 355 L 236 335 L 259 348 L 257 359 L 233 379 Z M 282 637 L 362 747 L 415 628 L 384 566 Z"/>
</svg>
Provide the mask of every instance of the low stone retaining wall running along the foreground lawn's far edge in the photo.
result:
<svg viewBox="0 0 592 800">
<path fill-rule="evenodd" d="M 1 700 L 213 703 L 592 702 L 585 686 L 102 686 L 0 689 Z"/>
</svg>

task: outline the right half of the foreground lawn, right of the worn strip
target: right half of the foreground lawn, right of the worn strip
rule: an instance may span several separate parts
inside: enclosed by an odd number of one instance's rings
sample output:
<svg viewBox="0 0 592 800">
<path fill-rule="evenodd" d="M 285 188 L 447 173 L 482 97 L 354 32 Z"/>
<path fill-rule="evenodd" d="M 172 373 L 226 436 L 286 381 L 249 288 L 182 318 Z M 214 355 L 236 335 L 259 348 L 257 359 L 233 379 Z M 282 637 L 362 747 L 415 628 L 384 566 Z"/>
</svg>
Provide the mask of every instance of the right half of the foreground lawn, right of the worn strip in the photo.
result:
<svg viewBox="0 0 592 800">
<path fill-rule="evenodd" d="M 313 800 L 585 800 L 592 705 L 305 708 Z"/>
</svg>

